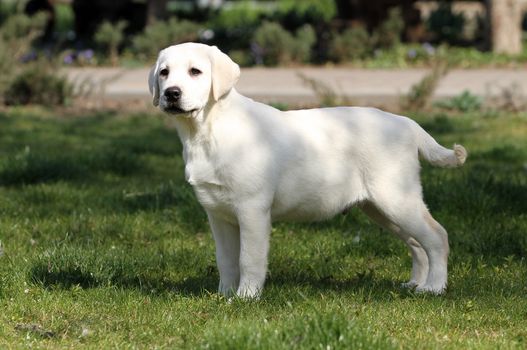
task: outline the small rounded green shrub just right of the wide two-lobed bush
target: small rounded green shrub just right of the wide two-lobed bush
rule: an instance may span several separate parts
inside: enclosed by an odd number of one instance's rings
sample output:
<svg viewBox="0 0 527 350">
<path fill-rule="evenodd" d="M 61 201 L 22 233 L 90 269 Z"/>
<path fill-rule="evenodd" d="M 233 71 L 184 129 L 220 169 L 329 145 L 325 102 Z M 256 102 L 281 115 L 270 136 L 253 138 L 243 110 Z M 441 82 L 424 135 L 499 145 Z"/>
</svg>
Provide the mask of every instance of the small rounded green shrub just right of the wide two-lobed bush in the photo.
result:
<svg viewBox="0 0 527 350">
<path fill-rule="evenodd" d="M 335 62 L 366 58 L 371 53 L 370 35 L 362 27 L 346 29 L 333 37 L 329 58 Z"/>
</svg>

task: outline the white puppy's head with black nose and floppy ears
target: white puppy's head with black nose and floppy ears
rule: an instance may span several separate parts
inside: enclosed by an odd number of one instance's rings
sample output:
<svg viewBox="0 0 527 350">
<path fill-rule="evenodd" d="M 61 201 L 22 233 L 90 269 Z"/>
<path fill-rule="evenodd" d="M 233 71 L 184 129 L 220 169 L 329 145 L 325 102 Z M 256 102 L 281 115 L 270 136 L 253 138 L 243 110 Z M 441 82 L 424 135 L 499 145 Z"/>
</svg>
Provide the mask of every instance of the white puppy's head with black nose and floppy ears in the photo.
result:
<svg viewBox="0 0 527 350">
<path fill-rule="evenodd" d="M 184 43 L 159 52 L 148 85 L 154 106 L 167 113 L 192 115 L 227 94 L 240 68 L 216 46 Z"/>
</svg>

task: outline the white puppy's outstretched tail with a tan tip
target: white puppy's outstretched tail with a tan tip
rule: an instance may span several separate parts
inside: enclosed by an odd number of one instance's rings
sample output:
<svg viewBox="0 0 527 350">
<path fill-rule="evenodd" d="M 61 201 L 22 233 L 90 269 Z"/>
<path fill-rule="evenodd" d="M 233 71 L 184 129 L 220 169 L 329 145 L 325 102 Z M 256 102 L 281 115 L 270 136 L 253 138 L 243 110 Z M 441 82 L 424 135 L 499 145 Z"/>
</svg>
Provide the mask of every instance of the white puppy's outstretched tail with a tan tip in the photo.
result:
<svg viewBox="0 0 527 350">
<path fill-rule="evenodd" d="M 465 147 L 454 144 L 453 149 L 445 148 L 437 143 L 417 123 L 414 125 L 416 126 L 415 131 L 419 155 L 430 162 L 430 164 L 443 168 L 455 168 L 465 163 L 467 159 L 467 150 Z"/>
</svg>

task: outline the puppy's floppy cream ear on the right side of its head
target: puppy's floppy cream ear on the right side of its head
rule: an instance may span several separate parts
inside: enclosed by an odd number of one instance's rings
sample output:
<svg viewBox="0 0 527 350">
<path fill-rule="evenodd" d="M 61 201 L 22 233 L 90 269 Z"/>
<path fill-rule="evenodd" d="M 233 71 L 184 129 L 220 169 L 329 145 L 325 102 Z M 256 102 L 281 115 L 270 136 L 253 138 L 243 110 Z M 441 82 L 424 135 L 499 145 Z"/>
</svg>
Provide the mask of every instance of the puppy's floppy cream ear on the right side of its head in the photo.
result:
<svg viewBox="0 0 527 350">
<path fill-rule="evenodd" d="M 216 46 L 210 50 L 212 63 L 212 96 L 218 101 L 240 78 L 240 67 Z"/>
</svg>

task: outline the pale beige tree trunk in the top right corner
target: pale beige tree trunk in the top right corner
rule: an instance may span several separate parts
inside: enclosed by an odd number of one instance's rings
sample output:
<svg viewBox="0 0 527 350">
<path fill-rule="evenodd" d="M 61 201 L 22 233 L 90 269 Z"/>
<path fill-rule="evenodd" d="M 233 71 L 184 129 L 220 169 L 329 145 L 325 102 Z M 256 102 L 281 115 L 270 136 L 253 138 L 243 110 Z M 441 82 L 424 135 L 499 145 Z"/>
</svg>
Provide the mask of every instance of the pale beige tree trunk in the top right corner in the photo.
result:
<svg viewBox="0 0 527 350">
<path fill-rule="evenodd" d="M 487 0 L 490 43 L 495 53 L 517 55 L 522 51 L 523 0 Z"/>
</svg>

